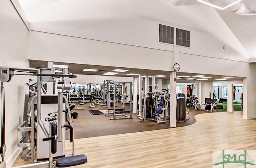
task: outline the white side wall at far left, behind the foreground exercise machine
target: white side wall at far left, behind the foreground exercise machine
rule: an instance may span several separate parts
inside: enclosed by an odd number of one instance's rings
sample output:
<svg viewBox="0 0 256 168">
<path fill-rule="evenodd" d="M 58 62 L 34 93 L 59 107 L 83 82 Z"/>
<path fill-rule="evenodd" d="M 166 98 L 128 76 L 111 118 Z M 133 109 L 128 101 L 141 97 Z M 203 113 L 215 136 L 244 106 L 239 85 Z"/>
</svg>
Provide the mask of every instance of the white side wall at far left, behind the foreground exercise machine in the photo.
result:
<svg viewBox="0 0 256 168">
<path fill-rule="evenodd" d="M 0 1 L 0 66 L 28 67 L 28 29 L 20 19 L 10 0 Z M 7 146 L 5 161 L 10 167 L 16 159 L 17 126 L 23 113 L 24 84 L 28 82 L 26 76 L 14 76 L 5 84 L 6 118 L 5 143 Z"/>
</svg>

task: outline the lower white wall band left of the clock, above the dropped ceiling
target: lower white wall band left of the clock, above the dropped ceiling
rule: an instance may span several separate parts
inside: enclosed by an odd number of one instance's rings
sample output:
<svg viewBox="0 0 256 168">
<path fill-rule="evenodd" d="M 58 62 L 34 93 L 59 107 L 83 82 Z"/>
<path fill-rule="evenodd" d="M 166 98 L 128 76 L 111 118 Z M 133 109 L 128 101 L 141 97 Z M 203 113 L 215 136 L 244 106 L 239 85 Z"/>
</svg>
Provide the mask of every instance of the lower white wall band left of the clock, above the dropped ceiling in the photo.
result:
<svg viewBox="0 0 256 168">
<path fill-rule="evenodd" d="M 164 61 L 148 61 L 161 56 Z M 79 59 L 74 59 L 79 58 Z M 171 70 L 172 52 L 29 31 L 28 59 L 78 64 Z M 164 62 L 164 63 L 163 63 Z"/>
</svg>

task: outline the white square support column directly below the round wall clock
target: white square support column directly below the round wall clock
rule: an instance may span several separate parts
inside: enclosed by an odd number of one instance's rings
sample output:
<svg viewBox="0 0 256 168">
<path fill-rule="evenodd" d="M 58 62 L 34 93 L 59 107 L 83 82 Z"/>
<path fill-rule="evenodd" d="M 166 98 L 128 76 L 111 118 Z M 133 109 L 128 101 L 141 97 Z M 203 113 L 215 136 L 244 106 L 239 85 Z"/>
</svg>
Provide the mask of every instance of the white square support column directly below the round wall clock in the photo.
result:
<svg viewBox="0 0 256 168">
<path fill-rule="evenodd" d="M 170 73 L 170 127 L 176 127 L 176 72 Z M 161 82 L 162 84 L 162 82 Z"/>
</svg>

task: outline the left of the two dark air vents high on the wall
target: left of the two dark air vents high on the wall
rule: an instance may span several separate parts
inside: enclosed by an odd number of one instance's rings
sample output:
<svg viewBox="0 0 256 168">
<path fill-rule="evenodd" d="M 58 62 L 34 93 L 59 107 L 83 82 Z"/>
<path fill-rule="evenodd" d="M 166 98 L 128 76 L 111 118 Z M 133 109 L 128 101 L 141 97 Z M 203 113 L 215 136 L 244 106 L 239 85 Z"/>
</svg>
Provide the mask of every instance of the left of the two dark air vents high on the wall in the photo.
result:
<svg viewBox="0 0 256 168">
<path fill-rule="evenodd" d="M 174 44 L 174 27 L 159 24 L 159 42 Z"/>
</svg>

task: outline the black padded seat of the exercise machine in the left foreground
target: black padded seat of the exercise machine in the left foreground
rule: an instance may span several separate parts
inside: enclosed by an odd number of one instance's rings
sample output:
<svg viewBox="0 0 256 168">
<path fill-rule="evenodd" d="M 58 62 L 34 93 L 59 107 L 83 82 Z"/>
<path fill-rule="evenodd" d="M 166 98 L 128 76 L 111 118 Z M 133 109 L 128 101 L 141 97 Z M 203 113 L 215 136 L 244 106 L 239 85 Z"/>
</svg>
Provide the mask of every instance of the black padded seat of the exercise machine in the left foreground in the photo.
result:
<svg viewBox="0 0 256 168">
<path fill-rule="evenodd" d="M 69 156 L 64 158 L 58 158 L 56 161 L 56 167 L 70 167 L 76 166 L 80 164 L 85 164 L 87 162 L 87 158 L 84 154 L 79 154 L 76 156 Z"/>
</svg>

